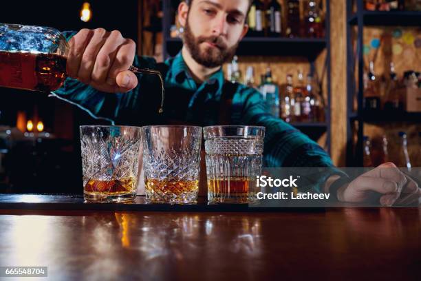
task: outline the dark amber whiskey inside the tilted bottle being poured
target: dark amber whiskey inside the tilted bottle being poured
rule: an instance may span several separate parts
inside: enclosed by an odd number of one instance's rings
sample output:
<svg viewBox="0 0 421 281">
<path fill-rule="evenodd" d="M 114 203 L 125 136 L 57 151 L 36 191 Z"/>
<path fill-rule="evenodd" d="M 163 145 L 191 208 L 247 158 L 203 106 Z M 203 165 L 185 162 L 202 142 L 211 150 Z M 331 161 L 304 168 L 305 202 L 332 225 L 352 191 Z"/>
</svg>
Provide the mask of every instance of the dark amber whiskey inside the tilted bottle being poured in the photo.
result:
<svg viewBox="0 0 421 281">
<path fill-rule="evenodd" d="M 51 92 L 66 78 L 66 58 L 58 54 L 0 51 L 0 87 Z"/>
</svg>

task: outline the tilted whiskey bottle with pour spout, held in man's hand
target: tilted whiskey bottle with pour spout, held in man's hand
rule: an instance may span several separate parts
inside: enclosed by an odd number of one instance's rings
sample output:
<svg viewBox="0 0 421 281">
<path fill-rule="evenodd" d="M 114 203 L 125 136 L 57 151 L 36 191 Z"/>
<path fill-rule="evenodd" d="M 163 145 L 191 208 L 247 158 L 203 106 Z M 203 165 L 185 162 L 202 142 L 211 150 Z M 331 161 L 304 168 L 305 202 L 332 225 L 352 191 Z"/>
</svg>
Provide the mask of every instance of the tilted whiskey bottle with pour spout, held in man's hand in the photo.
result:
<svg viewBox="0 0 421 281">
<path fill-rule="evenodd" d="M 67 78 L 69 45 L 55 28 L 0 23 L 0 87 L 53 92 Z M 130 66 L 131 72 L 158 75 L 163 112 L 164 81 L 158 70 Z"/>
</svg>

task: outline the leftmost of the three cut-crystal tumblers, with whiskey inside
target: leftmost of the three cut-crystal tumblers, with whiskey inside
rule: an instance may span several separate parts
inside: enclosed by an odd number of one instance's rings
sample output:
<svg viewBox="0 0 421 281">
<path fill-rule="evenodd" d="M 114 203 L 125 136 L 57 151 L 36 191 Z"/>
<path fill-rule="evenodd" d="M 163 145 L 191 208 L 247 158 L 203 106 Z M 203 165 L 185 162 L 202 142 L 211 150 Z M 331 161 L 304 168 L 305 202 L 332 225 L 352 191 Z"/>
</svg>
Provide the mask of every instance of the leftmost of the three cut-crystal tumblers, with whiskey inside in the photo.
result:
<svg viewBox="0 0 421 281">
<path fill-rule="evenodd" d="M 83 194 L 87 202 L 136 198 L 141 128 L 80 126 Z"/>
</svg>

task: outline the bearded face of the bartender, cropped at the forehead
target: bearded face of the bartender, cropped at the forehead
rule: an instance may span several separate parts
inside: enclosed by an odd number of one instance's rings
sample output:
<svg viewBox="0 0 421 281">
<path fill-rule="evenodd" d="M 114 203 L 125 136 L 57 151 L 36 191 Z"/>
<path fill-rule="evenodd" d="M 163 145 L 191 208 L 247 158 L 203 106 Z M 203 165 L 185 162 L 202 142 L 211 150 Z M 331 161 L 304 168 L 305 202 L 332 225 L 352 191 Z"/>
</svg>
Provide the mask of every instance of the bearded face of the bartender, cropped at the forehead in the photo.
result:
<svg viewBox="0 0 421 281">
<path fill-rule="evenodd" d="M 193 59 L 205 67 L 217 67 L 232 59 L 248 30 L 249 0 L 193 0 L 181 3 L 180 23 L 184 44 Z"/>
</svg>

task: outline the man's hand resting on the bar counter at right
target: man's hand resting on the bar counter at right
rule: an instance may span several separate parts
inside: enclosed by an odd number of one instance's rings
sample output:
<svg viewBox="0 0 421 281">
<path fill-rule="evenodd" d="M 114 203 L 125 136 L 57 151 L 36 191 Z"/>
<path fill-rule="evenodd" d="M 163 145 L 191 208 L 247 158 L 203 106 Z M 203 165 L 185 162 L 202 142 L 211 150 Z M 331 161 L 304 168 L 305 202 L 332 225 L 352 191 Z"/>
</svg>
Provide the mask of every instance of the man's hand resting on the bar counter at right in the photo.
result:
<svg viewBox="0 0 421 281">
<path fill-rule="evenodd" d="M 383 206 L 420 204 L 421 189 L 393 163 L 382 164 L 338 189 L 341 202 L 369 202 L 380 196 Z"/>
</svg>

